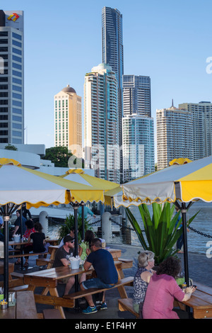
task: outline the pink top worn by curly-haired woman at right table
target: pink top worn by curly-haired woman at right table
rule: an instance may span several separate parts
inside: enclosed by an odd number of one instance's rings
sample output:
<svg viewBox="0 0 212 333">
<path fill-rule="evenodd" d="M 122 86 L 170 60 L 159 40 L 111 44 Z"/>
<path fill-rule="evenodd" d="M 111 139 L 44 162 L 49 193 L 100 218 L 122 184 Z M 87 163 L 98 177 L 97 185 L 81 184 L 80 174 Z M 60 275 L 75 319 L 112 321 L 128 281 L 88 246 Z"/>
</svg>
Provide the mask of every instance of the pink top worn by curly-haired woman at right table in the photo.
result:
<svg viewBox="0 0 212 333">
<path fill-rule="evenodd" d="M 154 274 L 146 290 L 143 319 L 179 319 L 177 313 L 172 311 L 175 298 L 179 301 L 184 298 L 184 292 L 175 278 Z"/>
</svg>

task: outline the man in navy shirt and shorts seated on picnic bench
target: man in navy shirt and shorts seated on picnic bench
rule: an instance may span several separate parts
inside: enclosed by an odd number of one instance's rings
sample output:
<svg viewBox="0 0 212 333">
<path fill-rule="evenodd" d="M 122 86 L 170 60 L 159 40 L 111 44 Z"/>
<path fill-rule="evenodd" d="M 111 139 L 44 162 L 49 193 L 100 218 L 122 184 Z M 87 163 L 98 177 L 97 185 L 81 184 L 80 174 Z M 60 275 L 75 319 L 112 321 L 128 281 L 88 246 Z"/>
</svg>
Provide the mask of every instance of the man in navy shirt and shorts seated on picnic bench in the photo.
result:
<svg viewBox="0 0 212 333">
<path fill-rule="evenodd" d="M 90 278 L 81 283 L 81 290 L 89 288 L 112 288 L 118 281 L 117 269 L 114 266 L 114 260 L 110 252 L 102 249 L 102 242 L 99 238 L 95 238 L 91 244 L 91 251 L 88 254 L 84 269 L 87 271 L 93 265 L 97 278 Z M 83 310 L 83 313 L 90 314 L 97 312 L 97 307 L 93 303 L 92 295 L 85 296 L 88 307 Z M 105 293 L 103 293 L 101 310 L 106 310 Z"/>
</svg>

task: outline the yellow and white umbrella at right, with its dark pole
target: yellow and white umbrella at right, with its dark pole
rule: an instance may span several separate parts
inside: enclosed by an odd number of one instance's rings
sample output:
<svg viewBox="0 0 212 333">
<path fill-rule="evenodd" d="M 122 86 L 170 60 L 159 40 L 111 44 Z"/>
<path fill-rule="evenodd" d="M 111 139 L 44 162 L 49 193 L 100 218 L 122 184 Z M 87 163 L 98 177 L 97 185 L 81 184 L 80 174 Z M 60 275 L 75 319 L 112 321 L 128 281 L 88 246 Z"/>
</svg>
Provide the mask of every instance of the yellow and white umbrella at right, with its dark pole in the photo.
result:
<svg viewBox="0 0 212 333">
<path fill-rule="evenodd" d="M 212 202 L 212 156 L 171 166 L 122 185 L 122 200 L 131 203 L 175 203 L 182 213 L 184 271 L 189 284 L 187 209 L 194 201 Z M 188 205 L 187 205 L 188 204 Z"/>
</svg>

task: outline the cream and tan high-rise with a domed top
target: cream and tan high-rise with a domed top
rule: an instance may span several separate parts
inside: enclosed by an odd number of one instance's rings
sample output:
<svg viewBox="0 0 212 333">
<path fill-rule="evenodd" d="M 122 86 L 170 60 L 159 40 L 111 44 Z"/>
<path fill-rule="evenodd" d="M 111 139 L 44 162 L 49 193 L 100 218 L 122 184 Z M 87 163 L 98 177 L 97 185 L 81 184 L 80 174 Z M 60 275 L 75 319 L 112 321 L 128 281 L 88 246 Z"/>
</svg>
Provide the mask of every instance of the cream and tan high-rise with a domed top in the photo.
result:
<svg viewBox="0 0 212 333">
<path fill-rule="evenodd" d="M 71 86 L 54 96 L 54 147 L 64 146 L 82 157 L 82 98 Z"/>
</svg>

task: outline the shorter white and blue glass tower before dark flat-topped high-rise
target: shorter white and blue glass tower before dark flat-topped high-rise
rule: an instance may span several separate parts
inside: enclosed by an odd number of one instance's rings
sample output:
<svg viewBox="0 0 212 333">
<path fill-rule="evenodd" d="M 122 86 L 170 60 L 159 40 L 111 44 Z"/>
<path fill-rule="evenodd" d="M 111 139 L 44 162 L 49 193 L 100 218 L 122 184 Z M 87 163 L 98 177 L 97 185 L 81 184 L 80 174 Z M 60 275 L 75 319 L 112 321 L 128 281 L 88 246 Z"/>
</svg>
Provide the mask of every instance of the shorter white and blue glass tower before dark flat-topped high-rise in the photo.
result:
<svg viewBox="0 0 212 333">
<path fill-rule="evenodd" d="M 154 120 L 126 115 L 123 124 L 123 176 L 131 181 L 155 171 Z"/>
</svg>

